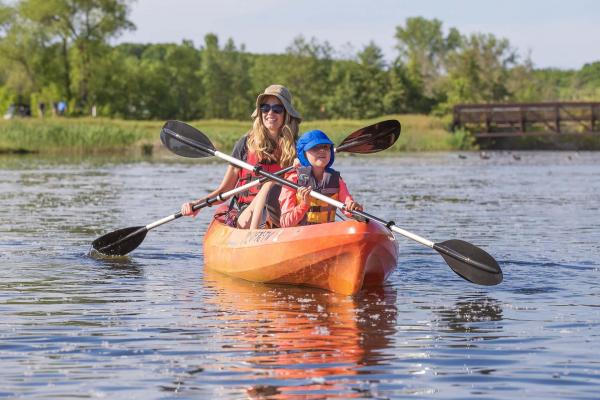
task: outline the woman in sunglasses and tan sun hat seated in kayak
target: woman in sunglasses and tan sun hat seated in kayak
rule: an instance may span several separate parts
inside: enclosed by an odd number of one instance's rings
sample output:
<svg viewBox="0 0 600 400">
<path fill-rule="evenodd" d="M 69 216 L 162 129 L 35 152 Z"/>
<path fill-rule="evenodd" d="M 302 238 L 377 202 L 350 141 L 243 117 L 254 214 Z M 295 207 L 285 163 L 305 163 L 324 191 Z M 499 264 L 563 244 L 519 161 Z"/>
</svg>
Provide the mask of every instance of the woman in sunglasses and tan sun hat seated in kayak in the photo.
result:
<svg viewBox="0 0 600 400">
<path fill-rule="evenodd" d="M 281 85 L 271 85 L 256 98 L 256 109 L 252 113 L 252 129 L 237 141 L 232 156 L 249 164 L 260 164 L 264 171 L 277 172 L 292 165 L 296 157 L 298 125 L 302 117 L 292 105 L 290 91 Z M 229 165 L 221 184 L 208 196 L 181 206 L 183 215 L 196 215 L 192 206 L 205 198 L 227 192 L 257 179 L 253 172 Z M 256 186 L 237 196 L 241 213 L 236 225 L 238 228 L 256 229 L 264 222 L 263 208 L 272 182 Z"/>
</svg>

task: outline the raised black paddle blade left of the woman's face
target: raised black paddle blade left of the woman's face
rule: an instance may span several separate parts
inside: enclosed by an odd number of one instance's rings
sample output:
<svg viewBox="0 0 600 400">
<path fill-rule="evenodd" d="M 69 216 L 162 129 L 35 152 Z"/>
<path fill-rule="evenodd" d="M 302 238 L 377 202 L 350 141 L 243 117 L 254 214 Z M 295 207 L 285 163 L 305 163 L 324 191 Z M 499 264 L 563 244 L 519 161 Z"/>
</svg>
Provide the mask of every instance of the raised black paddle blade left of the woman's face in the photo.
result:
<svg viewBox="0 0 600 400">
<path fill-rule="evenodd" d="M 198 129 L 181 121 L 167 121 L 160 131 L 160 140 L 173 153 L 189 158 L 210 157 L 215 150 L 210 139 Z"/>
</svg>

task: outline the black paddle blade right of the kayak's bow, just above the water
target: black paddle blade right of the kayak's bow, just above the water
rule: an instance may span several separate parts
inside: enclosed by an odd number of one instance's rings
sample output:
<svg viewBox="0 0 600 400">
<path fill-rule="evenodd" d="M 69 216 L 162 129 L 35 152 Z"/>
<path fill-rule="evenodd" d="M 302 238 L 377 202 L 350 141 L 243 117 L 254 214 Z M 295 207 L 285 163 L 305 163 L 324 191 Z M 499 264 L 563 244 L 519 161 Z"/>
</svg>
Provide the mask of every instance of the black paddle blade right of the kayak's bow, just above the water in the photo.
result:
<svg viewBox="0 0 600 400">
<path fill-rule="evenodd" d="M 450 268 L 469 282 L 478 285 L 497 285 L 502 282 L 502 270 L 494 257 L 471 243 L 452 239 L 435 243 Z"/>
</svg>

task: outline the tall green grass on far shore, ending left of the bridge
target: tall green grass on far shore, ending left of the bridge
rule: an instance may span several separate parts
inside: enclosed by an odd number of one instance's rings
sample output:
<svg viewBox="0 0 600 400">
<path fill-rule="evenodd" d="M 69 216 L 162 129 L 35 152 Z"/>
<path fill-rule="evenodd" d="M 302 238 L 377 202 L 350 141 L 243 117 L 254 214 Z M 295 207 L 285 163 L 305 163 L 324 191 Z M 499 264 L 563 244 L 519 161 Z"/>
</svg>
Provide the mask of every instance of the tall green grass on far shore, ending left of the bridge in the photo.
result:
<svg viewBox="0 0 600 400">
<path fill-rule="evenodd" d="M 395 151 L 451 150 L 456 144 L 444 122 L 425 115 L 391 115 L 369 120 L 306 121 L 300 132 L 321 129 L 334 143 L 351 132 L 384 119 L 397 119 L 402 133 Z M 0 121 L 0 152 L 48 154 L 113 153 L 159 147 L 164 121 L 129 121 L 93 118 L 47 118 Z M 221 151 L 230 151 L 251 127 L 251 121 L 198 120 L 191 125 L 203 131 Z"/>
</svg>

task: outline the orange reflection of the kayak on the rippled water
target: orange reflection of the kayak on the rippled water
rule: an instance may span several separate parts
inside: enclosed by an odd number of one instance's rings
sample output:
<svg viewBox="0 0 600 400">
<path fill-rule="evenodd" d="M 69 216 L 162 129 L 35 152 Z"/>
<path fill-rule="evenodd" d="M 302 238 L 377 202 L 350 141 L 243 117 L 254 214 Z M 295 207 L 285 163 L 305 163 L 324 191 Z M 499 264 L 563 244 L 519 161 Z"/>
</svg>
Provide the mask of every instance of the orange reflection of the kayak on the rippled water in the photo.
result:
<svg viewBox="0 0 600 400">
<path fill-rule="evenodd" d="M 211 293 L 205 301 L 221 327 L 215 343 L 226 349 L 214 368 L 252 380 L 249 398 L 307 398 L 315 391 L 322 394 L 318 398 L 364 398 L 352 388 L 365 370 L 387 362 L 397 319 L 392 287 L 348 297 L 249 284 L 211 270 L 203 282 Z M 231 349 L 243 360 L 232 365 Z"/>
</svg>

